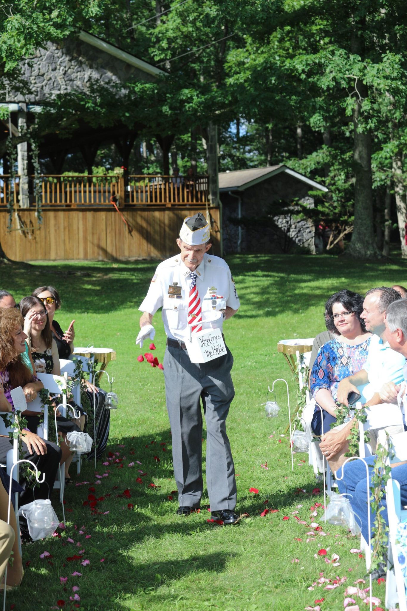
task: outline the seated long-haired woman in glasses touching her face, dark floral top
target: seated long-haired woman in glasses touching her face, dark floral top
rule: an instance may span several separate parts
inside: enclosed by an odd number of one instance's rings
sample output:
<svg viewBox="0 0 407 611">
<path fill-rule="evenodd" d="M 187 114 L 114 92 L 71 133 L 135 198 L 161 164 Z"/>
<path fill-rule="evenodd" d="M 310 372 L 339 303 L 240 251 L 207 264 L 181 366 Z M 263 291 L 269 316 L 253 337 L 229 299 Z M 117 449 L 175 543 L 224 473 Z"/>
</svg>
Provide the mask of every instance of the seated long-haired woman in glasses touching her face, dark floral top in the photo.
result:
<svg viewBox="0 0 407 611">
<path fill-rule="evenodd" d="M 37 373 L 52 373 L 60 375 L 61 368 L 59 364 L 59 356 L 57 345 L 52 339 L 51 326 L 48 320 L 48 314 L 41 299 L 37 297 L 24 297 L 20 301 L 20 312 L 24 316 L 24 332 L 27 334 L 28 341 L 31 344 L 31 354 L 34 360 L 34 367 Z M 78 406 L 74 406 L 79 409 Z M 29 428 L 38 426 L 38 415 L 28 414 L 27 422 Z M 66 483 L 71 483 L 69 475 L 69 466 L 71 464 L 73 454 L 65 442 L 67 433 L 73 431 L 76 425 L 67 418 L 62 416 L 57 417 L 58 432 L 62 434 L 63 442 L 61 443 L 62 461 L 65 464 Z M 79 430 L 79 428 L 77 428 Z"/>
</svg>

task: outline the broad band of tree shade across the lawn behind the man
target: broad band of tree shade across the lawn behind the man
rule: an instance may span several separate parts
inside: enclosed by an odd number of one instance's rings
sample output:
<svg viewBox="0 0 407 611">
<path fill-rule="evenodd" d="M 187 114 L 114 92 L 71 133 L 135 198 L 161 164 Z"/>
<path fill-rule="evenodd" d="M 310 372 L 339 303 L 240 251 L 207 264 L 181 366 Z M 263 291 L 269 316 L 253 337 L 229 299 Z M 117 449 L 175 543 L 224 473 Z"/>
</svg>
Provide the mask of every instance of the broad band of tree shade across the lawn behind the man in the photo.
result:
<svg viewBox="0 0 407 611">
<path fill-rule="evenodd" d="M 10 269 L 0 266 L 0 288 L 21 299 L 38 286 L 51 284 L 70 312 L 110 313 L 139 306 L 157 263 L 40 262 L 28 271 L 26 265 L 15 264 L 12 280 Z M 237 315 L 241 318 L 273 317 L 315 306 L 323 313 L 326 299 L 341 288 L 360 291 L 378 284 L 406 284 L 407 277 L 407 262 L 402 259 L 382 263 L 329 255 L 232 255 L 228 263 L 242 299 Z M 309 291 L 304 290 L 311 284 Z"/>
</svg>

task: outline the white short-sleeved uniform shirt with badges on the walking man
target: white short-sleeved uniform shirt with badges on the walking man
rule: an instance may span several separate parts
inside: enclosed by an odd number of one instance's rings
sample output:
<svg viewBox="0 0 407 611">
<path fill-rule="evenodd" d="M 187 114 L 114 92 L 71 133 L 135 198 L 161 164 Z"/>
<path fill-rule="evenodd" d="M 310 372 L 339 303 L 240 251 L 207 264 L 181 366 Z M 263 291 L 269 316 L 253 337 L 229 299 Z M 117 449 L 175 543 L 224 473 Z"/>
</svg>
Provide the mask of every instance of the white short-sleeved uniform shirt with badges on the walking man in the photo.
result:
<svg viewBox="0 0 407 611">
<path fill-rule="evenodd" d="M 155 314 L 162 307 L 162 320 L 167 337 L 184 341 L 189 339 L 188 301 L 190 269 L 175 255 L 159 264 L 151 280 L 148 293 L 140 305 L 141 312 Z M 204 254 L 195 269 L 196 288 L 201 299 L 202 317 L 214 311 L 225 310 L 226 305 L 239 309 L 240 301 L 234 280 L 226 262 L 220 257 Z M 223 316 L 216 326 L 222 329 Z M 205 328 L 205 324 L 203 328 Z"/>
</svg>

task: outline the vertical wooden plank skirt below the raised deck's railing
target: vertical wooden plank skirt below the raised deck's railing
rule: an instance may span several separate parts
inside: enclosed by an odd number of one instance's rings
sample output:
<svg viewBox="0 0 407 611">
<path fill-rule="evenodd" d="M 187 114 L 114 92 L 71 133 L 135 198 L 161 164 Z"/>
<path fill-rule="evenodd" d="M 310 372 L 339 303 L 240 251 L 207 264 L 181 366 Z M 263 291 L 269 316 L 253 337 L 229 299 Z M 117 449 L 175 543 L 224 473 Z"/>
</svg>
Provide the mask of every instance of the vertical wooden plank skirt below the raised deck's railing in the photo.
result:
<svg viewBox="0 0 407 611">
<path fill-rule="evenodd" d="M 12 230 L 8 232 L 9 213 L 2 208 L 0 240 L 5 254 L 15 261 L 167 258 L 177 252 L 176 238 L 185 216 L 205 210 L 205 204 L 179 208 L 125 205 L 120 213 L 127 225 L 112 205 L 44 208 L 43 222 L 38 226 L 34 208 L 16 208 Z M 209 210 L 211 252 L 218 255 L 219 209 Z"/>
</svg>

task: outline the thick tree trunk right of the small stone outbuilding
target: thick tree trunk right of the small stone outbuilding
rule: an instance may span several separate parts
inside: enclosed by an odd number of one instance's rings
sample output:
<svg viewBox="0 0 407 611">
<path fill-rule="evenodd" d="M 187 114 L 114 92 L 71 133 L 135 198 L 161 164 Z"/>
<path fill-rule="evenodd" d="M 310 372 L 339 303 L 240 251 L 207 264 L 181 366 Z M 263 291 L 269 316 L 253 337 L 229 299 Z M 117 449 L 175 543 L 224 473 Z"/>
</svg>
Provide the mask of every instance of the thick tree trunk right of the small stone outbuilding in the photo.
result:
<svg viewBox="0 0 407 611">
<path fill-rule="evenodd" d="M 351 257 L 378 258 L 373 233 L 372 196 L 372 136 L 370 130 L 361 131 L 362 101 L 367 98 L 367 86 L 362 82 L 355 85 L 355 106 L 353 106 L 353 167 L 355 172 L 355 221 L 352 238 L 348 247 Z"/>
</svg>

